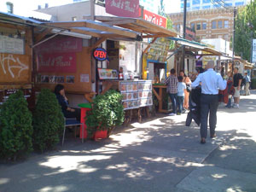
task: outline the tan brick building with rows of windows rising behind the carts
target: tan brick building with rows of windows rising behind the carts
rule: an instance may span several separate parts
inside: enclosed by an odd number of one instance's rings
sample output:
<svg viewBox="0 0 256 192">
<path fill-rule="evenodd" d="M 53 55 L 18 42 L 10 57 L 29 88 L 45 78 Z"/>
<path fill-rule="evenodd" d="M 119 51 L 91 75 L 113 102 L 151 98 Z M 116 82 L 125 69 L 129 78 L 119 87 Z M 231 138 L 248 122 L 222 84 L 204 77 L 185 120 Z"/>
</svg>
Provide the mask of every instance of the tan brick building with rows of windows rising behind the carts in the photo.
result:
<svg viewBox="0 0 256 192">
<path fill-rule="evenodd" d="M 230 41 L 233 36 L 233 15 L 232 9 L 190 11 L 187 14 L 187 26 L 195 30 L 197 41 L 205 38 L 223 38 Z M 183 13 L 170 14 L 170 18 L 173 28 L 180 32 L 183 28 Z"/>
</svg>

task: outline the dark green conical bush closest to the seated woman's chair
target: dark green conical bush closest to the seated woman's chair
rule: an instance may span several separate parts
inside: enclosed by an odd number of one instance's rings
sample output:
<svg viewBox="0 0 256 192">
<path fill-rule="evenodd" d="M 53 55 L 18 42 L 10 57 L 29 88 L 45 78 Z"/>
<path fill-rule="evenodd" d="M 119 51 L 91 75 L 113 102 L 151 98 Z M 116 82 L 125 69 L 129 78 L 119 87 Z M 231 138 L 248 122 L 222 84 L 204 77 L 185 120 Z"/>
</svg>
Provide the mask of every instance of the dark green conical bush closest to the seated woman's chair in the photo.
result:
<svg viewBox="0 0 256 192">
<path fill-rule="evenodd" d="M 64 116 L 54 93 L 48 89 L 41 90 L 33 116 L 34 148 L 44 152 L 60 142 L 64 129 Z"/>
</svg>

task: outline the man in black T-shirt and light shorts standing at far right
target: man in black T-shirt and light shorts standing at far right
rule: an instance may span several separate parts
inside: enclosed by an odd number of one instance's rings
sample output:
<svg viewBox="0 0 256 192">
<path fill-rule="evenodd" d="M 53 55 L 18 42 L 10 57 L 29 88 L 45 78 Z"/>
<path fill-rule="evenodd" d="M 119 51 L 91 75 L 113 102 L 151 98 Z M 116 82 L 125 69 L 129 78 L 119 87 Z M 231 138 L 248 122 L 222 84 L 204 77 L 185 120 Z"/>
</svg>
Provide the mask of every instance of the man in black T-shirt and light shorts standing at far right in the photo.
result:
<svg viewBox="0 0 256 192">
<path fill-rule="evenodd" d="M 235 67 L 234 77 L 233 77 L 233 86 L 235 89 L 235 94 L 234 94 L 235 103 L 233 108 L 239 108 L 241 80 L 242 80 L 242 75 L 241 73 L 238 73 L 238 67 Z"/>
</svg>

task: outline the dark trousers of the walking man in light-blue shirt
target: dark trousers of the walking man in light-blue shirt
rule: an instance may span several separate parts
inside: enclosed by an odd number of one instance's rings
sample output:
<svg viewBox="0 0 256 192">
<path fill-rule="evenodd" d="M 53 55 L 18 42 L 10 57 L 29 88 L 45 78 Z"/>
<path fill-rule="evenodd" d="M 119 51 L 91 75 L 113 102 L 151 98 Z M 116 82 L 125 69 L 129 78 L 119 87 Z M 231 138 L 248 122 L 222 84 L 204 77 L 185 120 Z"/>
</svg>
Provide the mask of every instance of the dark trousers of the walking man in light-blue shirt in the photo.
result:
<svg viewBox="0 0 256 192">
<path fill-rule="evenodd" d="M 201 137 L 207 138 L 208 114 L 210 134 L 215 134 L 217 124 L 218 95 L 201 95 Z"/>
</svg>

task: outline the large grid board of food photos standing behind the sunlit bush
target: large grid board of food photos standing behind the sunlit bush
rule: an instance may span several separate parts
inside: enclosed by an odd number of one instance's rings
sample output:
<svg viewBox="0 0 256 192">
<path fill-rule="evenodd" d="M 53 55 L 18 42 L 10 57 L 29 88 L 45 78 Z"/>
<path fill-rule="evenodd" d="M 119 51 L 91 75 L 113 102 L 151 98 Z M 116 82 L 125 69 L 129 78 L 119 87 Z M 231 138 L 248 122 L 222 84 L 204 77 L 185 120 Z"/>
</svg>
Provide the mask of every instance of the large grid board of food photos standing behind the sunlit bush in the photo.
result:
<svg viewBox="0 0 256 192">
<path fill-rule="evenodd" d="M 120 81 L 119 91 L 123 96 L 124 109 L 146 107 L 153 104 L 152 81 Z"/>
</svg>

